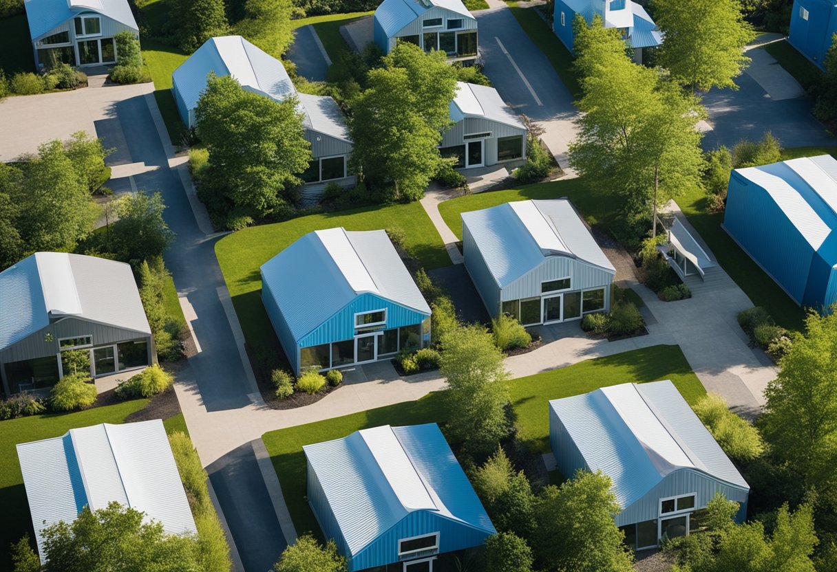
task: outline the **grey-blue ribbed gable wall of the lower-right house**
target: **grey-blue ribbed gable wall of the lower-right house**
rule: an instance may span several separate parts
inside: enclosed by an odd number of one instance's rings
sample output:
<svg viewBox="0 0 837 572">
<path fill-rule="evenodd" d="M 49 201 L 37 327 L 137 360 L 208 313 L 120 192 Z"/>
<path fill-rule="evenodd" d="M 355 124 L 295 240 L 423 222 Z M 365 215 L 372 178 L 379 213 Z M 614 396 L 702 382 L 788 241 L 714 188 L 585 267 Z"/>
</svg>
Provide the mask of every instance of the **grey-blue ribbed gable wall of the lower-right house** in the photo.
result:
<svg viewBox="0 0 837 572">
<path fill-rule="evenodd" d="M 681 468 L 670 472 L 660 483 L 652 488 L 637 502 L 619 513 L 616 517 L 617 526 L 641 523 L 645 520 L 655 520 L 660 516 L 660 498 L 677 497 L 684 494 L 697 493 L 696 508 L 706 508 L 706 504 L 721 493 L 729 500 L 741 503 L 746 507 L 748 493 L 740 488 L 730 487 L 720 483 L 705 473 L 690 468 Z"/>
</svg>

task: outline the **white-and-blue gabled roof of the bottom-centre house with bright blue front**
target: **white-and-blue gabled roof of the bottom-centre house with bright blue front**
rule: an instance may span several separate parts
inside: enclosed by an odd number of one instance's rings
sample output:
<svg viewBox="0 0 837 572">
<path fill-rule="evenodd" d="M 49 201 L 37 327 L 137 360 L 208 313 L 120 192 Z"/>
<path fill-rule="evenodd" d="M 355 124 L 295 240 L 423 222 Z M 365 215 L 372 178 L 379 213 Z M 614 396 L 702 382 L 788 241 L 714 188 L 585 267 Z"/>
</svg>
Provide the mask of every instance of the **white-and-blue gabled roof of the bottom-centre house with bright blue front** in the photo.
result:
<svg viewBox="0 0 837 572">
<path fill-rule="evenodd" d="M 302 448 L 352 555 L 421 510 L 496 532 L 435 423 L 362 429 Z"/>
</svg>

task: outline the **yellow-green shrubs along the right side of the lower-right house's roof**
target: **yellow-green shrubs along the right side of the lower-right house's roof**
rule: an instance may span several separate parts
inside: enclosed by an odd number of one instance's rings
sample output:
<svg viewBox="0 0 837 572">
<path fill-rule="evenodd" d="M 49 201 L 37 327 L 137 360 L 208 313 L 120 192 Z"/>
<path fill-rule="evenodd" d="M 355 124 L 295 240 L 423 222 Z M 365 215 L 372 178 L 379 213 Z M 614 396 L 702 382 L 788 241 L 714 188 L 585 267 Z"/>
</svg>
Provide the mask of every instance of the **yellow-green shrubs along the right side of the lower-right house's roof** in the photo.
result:
<svg viewBox="0 0 837 572">
<path fill-rule="evenodd" d="M 746 419 L 727 407 L 727 401 L 716 393 L 701 397 L 693 407 L 712 437 L 733 459 L 751 461 L 764 452 L 761 433 Z"/>
</svg>

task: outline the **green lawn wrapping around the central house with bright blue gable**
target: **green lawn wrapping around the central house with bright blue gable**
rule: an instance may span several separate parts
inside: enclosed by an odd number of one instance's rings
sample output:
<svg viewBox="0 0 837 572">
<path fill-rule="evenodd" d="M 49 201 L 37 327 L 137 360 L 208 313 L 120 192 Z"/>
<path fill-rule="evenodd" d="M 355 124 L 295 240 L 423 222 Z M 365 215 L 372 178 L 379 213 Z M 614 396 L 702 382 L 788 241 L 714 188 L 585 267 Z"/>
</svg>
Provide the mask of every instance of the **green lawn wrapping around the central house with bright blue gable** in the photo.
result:
<svg viewBox="0 0 837 572">
<path fill-rule="evenodd" d="M 314 214 L 247 228 L 223 237 L 215 245 L 215 254 L 244 338 L 267 370 L 283 365 L 283 354 L 264 313 L 259 267 L 307 232 L 332 227 L 346 227 L 347 230 L 400 227 L 405 232 L 405 247 L 419 258 L 424 268 L 439 268 L 450 263 L 439 232 L 418 202 Z"/>
</svg>

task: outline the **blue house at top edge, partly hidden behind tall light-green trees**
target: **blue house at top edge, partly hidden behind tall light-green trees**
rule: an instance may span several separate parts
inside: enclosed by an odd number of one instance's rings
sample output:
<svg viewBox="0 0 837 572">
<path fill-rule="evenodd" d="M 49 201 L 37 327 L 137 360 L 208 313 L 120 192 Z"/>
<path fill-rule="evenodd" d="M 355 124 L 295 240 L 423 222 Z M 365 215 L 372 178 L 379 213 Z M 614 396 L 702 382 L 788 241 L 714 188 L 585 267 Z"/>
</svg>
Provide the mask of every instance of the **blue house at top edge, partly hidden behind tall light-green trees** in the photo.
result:
<svg viewBox="0 0 837 572">
<path fill-rule="evenodd" d="M 573 52 L 573 21 L 576 14 L 593 23 L 598 14 L 605 28 L 619 28 L 625 42 L 634 49 L 634 61 L 642 63 L 643 50 L 656 48 L 663 37 L 645 8 L 631 0 L 555 0 L 552 29 Z"/>
</svg>

